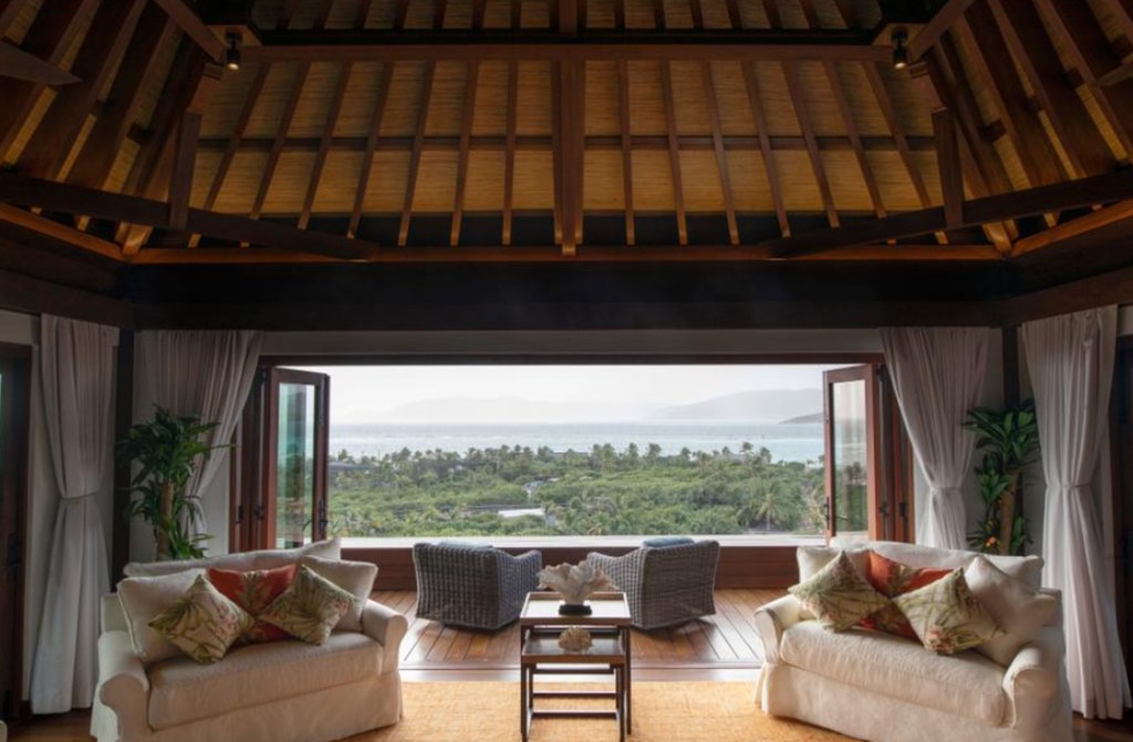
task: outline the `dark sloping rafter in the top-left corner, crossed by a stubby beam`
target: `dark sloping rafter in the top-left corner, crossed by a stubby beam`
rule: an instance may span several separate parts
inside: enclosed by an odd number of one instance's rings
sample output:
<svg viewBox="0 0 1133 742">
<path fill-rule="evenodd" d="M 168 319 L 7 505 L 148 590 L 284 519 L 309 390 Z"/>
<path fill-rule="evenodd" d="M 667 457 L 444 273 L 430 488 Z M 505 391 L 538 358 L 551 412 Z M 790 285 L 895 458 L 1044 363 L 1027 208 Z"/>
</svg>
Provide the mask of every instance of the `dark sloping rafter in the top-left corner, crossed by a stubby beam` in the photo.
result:
<svg viewBox="0 0 1133 742">
<path fill-rule="evenodd" d="M 20 50 L 58 67 L 78 34 L 86 27 L 97 0 L 53 0 L 40 8 Z M 0 157 L 8 152 L 40 95 L 42 83 L 0 77 Z"/>
</svg>

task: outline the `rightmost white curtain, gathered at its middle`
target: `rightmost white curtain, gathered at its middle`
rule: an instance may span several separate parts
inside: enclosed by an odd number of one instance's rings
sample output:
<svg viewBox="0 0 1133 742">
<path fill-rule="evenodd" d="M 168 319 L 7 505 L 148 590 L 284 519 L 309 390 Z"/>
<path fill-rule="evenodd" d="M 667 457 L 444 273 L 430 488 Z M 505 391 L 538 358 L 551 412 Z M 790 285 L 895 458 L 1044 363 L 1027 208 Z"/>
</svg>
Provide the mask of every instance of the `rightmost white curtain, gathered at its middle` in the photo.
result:
<svg viewBox="0 0 1133 742">
<path fill-rule="evenodd" d="M 1116 307 L 1023 325 L 1047 481 L 1042 579 L 1063 592 L 1071 699 L 1087 718 L 1119 718 L 1130 706 L 1092 489 L 1116 339 Z"/>
</svg>

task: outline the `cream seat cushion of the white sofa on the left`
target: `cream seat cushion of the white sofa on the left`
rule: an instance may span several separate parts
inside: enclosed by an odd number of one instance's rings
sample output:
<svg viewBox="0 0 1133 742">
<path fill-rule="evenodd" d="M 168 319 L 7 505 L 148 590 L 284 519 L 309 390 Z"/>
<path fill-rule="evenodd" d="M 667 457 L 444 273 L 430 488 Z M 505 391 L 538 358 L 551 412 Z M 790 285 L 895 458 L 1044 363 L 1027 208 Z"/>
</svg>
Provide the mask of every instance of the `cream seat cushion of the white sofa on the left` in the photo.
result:
<svg viewBox="0 0 1133 742">
<path fill-rule="evenodd" d="M 382 672 L 382 645 L 334 633 L 322 646 L 247 645 L 214 665 L 188 658 L 150 668 L 150 726 L 163 730 L 280 699 L 357 682 Z"/>
</svg>

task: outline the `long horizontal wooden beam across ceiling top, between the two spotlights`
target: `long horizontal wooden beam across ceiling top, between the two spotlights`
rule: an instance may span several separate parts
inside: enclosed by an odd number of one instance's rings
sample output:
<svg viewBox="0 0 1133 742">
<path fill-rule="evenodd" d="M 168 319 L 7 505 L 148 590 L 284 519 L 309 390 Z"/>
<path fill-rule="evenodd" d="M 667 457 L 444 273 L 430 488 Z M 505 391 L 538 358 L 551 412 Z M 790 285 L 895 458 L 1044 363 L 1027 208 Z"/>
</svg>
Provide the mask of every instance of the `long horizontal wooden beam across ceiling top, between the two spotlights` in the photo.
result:
<svg viewBox="0 0 1133 742">
<path fill-rule="evenodd" d="M 587 31 L 564 40 L 542 31 L 264 31 L 249 62 L 418 60 L 811 60 L 889 61 L 888 46 L 861 32 Z"/>
</svg>

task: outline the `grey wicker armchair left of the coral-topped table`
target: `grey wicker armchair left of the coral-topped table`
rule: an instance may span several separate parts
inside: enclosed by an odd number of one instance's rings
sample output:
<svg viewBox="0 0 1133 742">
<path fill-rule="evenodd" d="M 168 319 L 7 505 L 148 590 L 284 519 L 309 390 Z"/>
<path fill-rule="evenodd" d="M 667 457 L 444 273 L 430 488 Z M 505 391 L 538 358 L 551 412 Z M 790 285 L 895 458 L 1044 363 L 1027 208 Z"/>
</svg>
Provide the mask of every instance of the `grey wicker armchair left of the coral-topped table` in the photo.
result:
<svg viewBox="0 0 1133 742">
<path fill-rule="evenodd" d="M 519 617 L 538 587 L 543 554 L 423 543 L 414 546 L 414 565 L 418 616 L 495 631 Z"/>
</svg>

